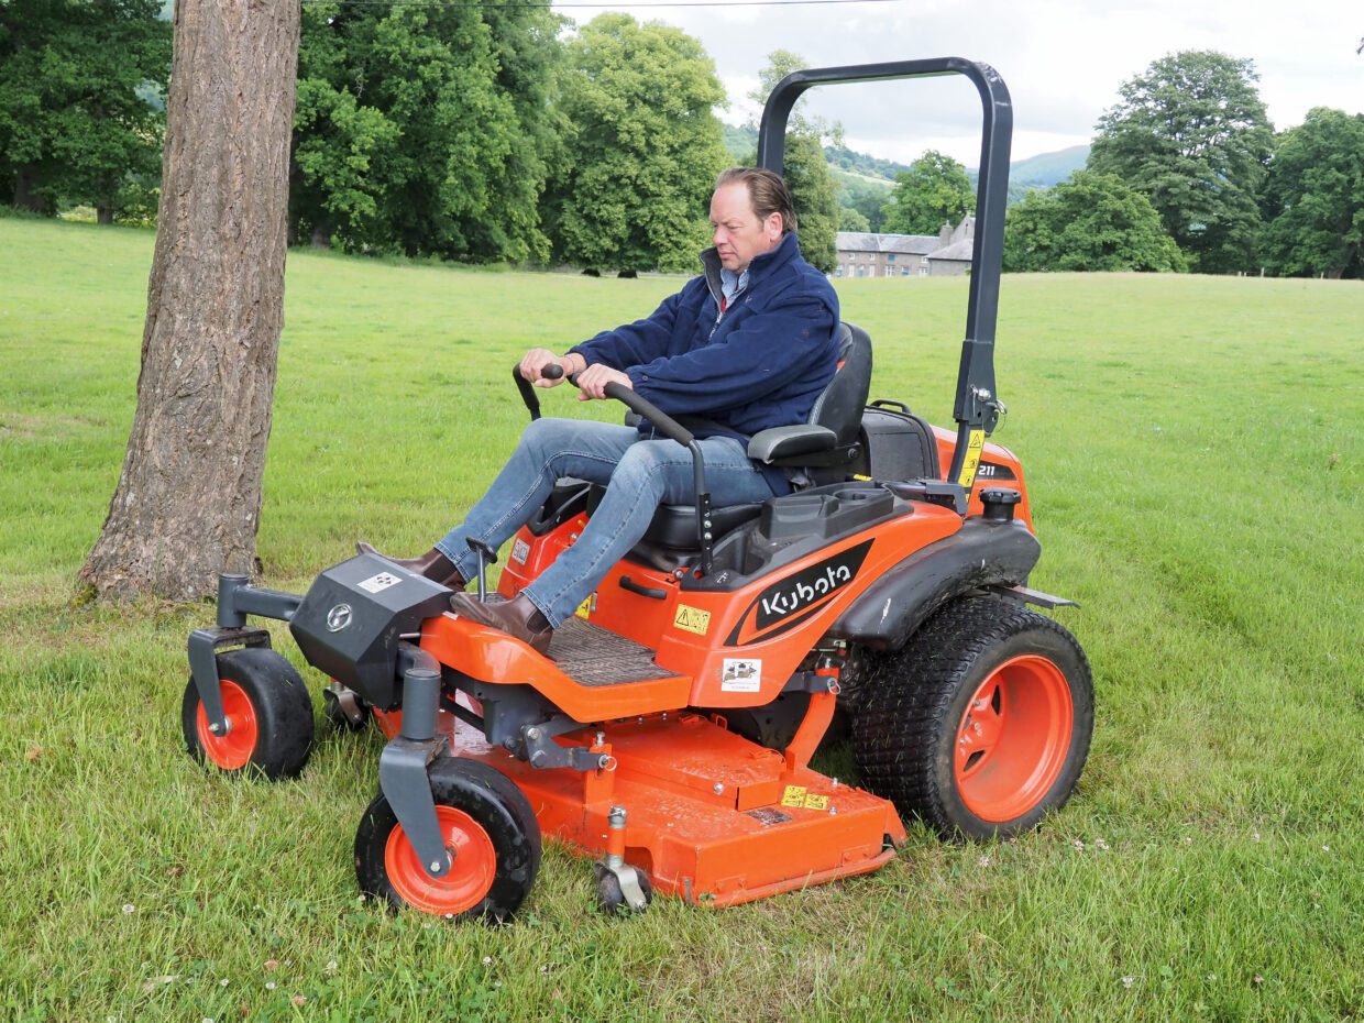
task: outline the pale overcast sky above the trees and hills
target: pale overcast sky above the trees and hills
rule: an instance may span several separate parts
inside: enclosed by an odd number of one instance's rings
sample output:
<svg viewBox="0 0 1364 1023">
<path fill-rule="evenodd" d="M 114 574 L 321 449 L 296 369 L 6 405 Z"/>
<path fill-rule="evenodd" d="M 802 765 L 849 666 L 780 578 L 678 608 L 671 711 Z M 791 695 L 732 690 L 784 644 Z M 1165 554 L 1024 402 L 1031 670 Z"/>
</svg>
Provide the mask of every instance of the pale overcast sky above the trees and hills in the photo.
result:
<svg viewBox="0 0 1364 1023">
<path fill-rule="evenodd" d="M 602 11 L 675 25 L 701 40 L 730 94 L 724 120 L 756 117 L 745 98 L 775 49 L 812 67 L 958 56 L 993 64 L 1013 98 L 1013 158 L 1083 145 L 1118 86 L 1158 57 L 1217 49 L 1249 57 L 1275 128 L 1314 106 L 1364 112 L 1360 0 L 844 0 L 828 4 L 619 7 L 555 3 L 585 23 Z M 937 149 L 979 162 L 981 102 L 964 78 L 829 86 L 803 109 L 843 123 L 850 149 L 910 162 Z"/>
</svg>

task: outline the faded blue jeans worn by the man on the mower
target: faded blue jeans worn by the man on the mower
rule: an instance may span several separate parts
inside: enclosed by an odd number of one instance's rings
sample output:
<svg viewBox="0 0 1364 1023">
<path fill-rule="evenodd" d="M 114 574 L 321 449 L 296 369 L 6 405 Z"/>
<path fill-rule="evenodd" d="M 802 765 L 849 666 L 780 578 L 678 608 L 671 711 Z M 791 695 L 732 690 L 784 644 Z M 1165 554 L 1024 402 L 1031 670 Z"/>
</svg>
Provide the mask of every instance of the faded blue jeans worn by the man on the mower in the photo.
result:
<svg viewBox="0 0 1364 1023">
<path fill-rule="evenodd" d="M 730 436 L 701 441 L 705 484 L 715 507 L 767 501 L 772 488 L 745 445 Z M 659 505 L 696 501 L 692 453 L 675 441 L 644 441 L 634 427 L 591 420 L 537 419 L 462 524 L 436 542 L 464 578 L 479 570 L 468 537 L 496 550 L 550 496 L 554 481 L 574 476 L 606 484 L 587 529 L 522 592 L 558 627 L 592 595 L 649 528 Z"/>
</svg>

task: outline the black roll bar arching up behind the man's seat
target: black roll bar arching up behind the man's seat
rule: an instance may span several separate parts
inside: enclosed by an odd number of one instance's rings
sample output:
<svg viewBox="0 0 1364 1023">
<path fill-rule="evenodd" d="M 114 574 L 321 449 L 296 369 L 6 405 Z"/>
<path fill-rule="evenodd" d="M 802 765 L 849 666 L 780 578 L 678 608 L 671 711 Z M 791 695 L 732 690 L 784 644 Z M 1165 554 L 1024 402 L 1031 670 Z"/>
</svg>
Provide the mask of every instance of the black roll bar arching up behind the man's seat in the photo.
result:
<svg viewBox="0 0 1364 1023">
<path fill-rule="evenodd" d="M 786 165 L 786 124 L 791 108 L 807 89 L 844 82 L 881 82 L 899 78 L 966 75 L 981 94 L 981 176 L 975 188 L 975 246 L 966 307 L 966 338 L 956 379 L 952 415 L 958 423 L 956 450 L 948 481 L 970 490 L 975 480 L 985 436 L 994 431 L 1004 405 L 994 387 L 994 322 L 1000 301 L 1000 263 L 1004 256 L 1004 209 L 1008 201 L 1009 145 L 1013 105 L 1008 86 L 989 64 L 962 57 L 895 60 L 883 64 L 792 71 L 777 82 L 758 125 L 758 166 L 782 173 Z"/>
</svg>

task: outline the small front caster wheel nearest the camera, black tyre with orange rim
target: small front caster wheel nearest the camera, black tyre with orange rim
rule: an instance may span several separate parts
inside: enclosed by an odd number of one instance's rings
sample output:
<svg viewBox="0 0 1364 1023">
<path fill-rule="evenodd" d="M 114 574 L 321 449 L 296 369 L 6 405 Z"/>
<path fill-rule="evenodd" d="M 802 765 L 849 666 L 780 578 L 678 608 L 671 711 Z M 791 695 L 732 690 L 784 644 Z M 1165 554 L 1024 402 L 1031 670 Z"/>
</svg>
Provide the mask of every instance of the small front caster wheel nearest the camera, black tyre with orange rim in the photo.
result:
<svg viewBox="0 0 1364 1023">
<path fill-rule="evenodd" d="M 428 771 L 450 872 L 431 877 L 381 792 L 360 818 L 355 872 L 360 891 L 389 907 L 458 921 L 509 919 L 540 869 L 540 825 L 525 794 L 472 760 L 441 757 Z"/>
</svg>

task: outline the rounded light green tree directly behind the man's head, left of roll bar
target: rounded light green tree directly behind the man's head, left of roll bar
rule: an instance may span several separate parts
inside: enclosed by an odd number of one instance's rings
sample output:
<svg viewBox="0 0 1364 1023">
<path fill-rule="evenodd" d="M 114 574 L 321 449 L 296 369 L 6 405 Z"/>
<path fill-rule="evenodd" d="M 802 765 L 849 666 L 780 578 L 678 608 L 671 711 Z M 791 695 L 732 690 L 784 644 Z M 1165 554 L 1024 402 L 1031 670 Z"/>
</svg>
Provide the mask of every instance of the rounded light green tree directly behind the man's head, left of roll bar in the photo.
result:
<svg viewBox="0 0 1364 1023">
<path fill-rule="evenodd" d="M 728 164 L 715 63 L 679 29 L 623 14 L 569 41 L 559 109 L 573 125 L 546 224 L 567 262 L 696 269 L 715 177 Z"/>
</svg>

